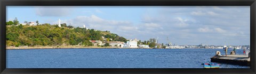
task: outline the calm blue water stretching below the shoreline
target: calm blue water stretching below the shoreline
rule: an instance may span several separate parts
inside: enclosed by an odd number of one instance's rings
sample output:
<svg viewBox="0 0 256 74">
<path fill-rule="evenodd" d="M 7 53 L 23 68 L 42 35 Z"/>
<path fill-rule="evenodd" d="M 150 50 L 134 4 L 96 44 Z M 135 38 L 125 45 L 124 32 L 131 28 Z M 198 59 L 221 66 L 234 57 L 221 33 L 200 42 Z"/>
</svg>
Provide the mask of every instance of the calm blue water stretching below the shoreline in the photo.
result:
<svg viewBox="0 0 256 74">
<path fill-rule="evenodd" d="M 7 68 L 203 68 L 223 49 L 6 50 Z M 231 50 L 228 50 L 230 52 Z M 236 50 L 243 54 L 243 50 Z M 225 54 L 225 53 L 224 53 Z M 220 68 L 250 68 L 221 64 Z"/>
</svg>

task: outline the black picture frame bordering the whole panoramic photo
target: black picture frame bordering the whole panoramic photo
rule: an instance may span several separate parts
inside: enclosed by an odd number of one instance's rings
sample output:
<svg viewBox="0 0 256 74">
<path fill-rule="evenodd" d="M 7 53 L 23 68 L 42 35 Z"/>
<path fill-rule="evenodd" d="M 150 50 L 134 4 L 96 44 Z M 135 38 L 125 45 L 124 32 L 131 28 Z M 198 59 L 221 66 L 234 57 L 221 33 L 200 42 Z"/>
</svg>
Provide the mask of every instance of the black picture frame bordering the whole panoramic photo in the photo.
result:
<svg viewBox="0 0 256 74">
<path fill-rule="evenodd" d="M 0 73 L 255 73 L 255 0 L 1 0 Z M 10 69 L 6 68 L 6 6 L 250 6 L 251 67 L 248 69 Z"/>
</svg>

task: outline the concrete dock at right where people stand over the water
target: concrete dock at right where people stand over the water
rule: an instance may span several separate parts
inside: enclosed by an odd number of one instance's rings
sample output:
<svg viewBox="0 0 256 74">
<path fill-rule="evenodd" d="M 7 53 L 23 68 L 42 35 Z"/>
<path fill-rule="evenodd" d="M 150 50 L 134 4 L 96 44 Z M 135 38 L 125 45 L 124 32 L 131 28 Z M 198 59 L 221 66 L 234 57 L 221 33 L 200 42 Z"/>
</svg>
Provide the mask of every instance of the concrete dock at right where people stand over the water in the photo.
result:
<svg viewBox="0 0 256 74">
<path fill-rule="evenodd" d="M 211 62 L 219 62 L 219 63 L 227 63 L 227 64 L 235 64 L 241 66 L 250 66 L 250 57 L 244 54 L 236 54 L 236 55 L 223 55 L 223 56 L 213 56 L 211 58 Z"/>
</svg>

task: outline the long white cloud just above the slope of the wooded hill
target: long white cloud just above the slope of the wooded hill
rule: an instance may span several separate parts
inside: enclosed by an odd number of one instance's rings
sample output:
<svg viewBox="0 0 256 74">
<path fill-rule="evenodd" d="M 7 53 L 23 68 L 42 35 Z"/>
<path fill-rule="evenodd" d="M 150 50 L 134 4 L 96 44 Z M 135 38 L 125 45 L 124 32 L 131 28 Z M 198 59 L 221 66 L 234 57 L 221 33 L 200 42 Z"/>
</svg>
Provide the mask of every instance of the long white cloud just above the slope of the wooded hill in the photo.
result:
<svg viewBox="0 0 256 74">
<path fill-rule="evenodd" d="M 54 24 L 57 23 L 58 21 L 54 22 Z M 75 27 L 83 27 L 85 25 L 89 29 L 110 31 L 111 33 L 125 36 L 125 38 L 132 38 L 131 34 L 138 33 L 138 27 L 135 27 L 129 21 L 106 20 L 96 15 L 77 16 L 69 20 L 62 20 L 61 23 L 67 23 L 67 25 Z"/>
</svg>

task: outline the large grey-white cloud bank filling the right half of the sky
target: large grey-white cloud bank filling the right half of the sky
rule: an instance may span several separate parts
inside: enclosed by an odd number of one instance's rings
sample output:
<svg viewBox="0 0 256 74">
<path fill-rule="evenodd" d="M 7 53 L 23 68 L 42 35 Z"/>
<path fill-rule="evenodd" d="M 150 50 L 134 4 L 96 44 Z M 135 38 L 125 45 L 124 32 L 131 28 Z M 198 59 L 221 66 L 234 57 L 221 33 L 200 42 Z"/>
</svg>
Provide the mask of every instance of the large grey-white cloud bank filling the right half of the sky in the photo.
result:
<svg viewBox="0 0 256 74">
<path fill-rule="evenodd" d="M 163 8 L 162 11 L 158 11 L 157 14 L 147 14 L 142 17 L 142 23 L 159 24 L 163 29 L 140 26 L 139 30 L 148 34 L 147 36 L 151 36 L 152 34 L 150 33 L 154 33 L 154 35 L 171 36 L 170 40 L 173 38 L 173 42 L 177 41 L 179 43 L 184 43 L 189 40 L 195 40 L 191 44 L 205 43 L 202 42 L 202 40 L 211 39 L 212 41 L 209 41 L 209 44 L 217 45 L 221 42 L 218 40 L 221 39 L 239 39 L 246 38 L 246 36 L 249 36 L 247 41 L 250 41 L 250 27 L 245 27 L 250 26 L 250 16 L 245 14 L 250 13 L 250 8 L 199 6 L 197 8 L 189 7 L 186 10 L 176 10 L 178 8 L 186 7 L 166 7 Z M 237 10 L 243 12 L 236 12 Z M 236 17 L 233 17 L 234 15 L 236 15 Z M 244 28 L 241 29 L 231 29 L 231 27 L 243 26 Z M 249 34 L 247 34 L 248 32 Z M 216 38 L 216 36 L 218 36 L 218 38 Z M 188 40 L 182 41 L 184 39 Z M 160 42 L 163 42 L 163 40 Z"/>
</svg>

